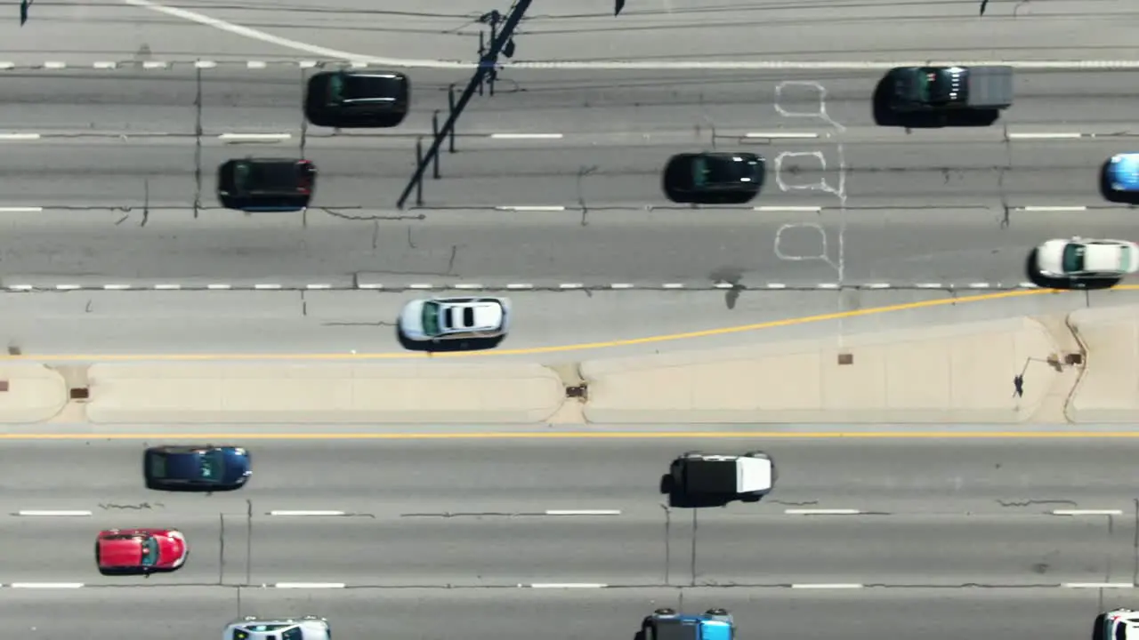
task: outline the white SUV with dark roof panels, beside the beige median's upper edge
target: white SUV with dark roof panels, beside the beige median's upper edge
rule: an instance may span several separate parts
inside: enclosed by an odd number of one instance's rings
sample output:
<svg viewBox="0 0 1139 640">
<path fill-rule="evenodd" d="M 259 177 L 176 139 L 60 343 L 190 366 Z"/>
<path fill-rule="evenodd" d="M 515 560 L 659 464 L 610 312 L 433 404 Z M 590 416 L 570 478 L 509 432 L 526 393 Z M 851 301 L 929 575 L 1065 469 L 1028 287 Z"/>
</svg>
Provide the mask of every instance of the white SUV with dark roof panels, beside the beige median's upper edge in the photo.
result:
<svg viewBox="0 0 1139 640">
<path fill-rule="evenodd" d="M 505 336 L 510 301 L 498 297 L 413 300 L 400 313 L 400 333 L 409 340 L 440 342 Z"/>
</svg>

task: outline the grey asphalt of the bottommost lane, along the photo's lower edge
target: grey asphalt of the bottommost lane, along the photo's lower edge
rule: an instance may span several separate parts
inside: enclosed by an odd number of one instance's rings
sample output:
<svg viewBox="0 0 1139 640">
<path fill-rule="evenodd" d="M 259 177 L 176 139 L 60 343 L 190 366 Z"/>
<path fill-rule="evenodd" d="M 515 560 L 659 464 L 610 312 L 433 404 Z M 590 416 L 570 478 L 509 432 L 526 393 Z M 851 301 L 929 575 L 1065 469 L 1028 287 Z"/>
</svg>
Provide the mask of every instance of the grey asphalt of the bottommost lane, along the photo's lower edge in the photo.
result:
<svg viewBox="0 0 1139 640">
<path fill-rule="evenodd" d="M 297 563 L 302 558 L 296 559 Z M 172 586 L 164 589 L 13 590 L 0 614 L 13 629 L 43 640 L 115 640 L 125 630 L 156 630 L 171 640 L 219 634 L 243 615 L 328 618 L 334 638 L 377 633 L 425 640 L 633 638 L 641 618 L 662 606 L 700 613 L 726 607 L 740 638 L 836 635 L 886 638 L 917 630 L 923 638 L 957 640 L 999 634 L 1013 640 L 1083 638 L 1104 608 L 1131 605 L 1130 590 L 1083 589 L 337 589 L 276 590 Z M 67 615 L 60 615 L 66 610 Z M 124 621 L 129 620 L 128 623 Z M 32 631 L 34 630 L 34 632 Z"/>
</svg>

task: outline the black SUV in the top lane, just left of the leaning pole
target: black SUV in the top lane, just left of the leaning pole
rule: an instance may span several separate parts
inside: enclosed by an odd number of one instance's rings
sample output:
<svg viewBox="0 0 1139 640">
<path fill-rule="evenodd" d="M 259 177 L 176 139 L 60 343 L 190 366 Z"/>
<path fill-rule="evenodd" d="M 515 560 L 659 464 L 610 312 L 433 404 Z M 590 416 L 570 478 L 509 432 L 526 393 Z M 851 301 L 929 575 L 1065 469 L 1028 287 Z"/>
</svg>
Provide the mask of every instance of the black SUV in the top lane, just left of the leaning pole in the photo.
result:
<svg viewBox="0 0 1139 640">
<path fill-rule="evenodd" d="M 309 79 L 304 116 L 337 129 L 399 126 L 411 105 L 411 81 L 399 72 L 318 73 Z"/>
</svg>

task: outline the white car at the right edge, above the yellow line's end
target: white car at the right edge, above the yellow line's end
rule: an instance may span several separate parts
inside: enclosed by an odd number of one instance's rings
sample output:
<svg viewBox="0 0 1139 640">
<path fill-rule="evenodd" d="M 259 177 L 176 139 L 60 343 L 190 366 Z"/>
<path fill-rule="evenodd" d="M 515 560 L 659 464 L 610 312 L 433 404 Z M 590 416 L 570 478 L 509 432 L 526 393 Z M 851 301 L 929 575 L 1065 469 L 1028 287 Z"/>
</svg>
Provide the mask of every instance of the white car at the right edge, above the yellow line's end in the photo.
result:
<svg viewBox="0 0 1139 640">
<path fill-rule="evenodd" d="M 1139 244 L 1071 238 L 1036 247 L 1036 271 L 1048 278 L 1120 278 L 1139 271 Z"/>
</svg>

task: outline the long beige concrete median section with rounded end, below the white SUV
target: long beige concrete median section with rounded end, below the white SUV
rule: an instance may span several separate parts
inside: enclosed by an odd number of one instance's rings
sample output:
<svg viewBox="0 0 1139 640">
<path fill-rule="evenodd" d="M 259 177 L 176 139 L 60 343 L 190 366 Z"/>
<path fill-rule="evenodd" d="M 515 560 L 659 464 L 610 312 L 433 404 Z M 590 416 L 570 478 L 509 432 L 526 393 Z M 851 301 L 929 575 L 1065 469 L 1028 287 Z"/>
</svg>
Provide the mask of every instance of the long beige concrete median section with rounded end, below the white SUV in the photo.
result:
<svg viewBox="0 0 1139 640">
<path fill-rule="evenodd" d="M 565 401 L 539 364 L 95 364 L 98 424 L 533 424 Z"/>
</svg>

